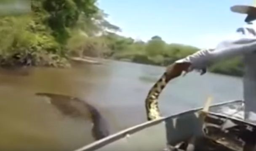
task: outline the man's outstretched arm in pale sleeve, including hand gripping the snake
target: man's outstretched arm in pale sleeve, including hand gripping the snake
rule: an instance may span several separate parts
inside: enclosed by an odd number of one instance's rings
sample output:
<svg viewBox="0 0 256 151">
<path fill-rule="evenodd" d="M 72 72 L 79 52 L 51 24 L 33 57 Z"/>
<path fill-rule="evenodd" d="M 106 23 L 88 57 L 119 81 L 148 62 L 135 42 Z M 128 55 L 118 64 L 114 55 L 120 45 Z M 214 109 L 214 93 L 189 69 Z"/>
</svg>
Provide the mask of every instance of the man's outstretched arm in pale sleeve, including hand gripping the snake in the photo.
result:
<svg viewBox="0 0 256 151">
<path fill-rule="evenodd" d="M 223 59 L 253 53 L 255 50 L 255 37 L 241 37 L 235 40 L 222 41 L 215 49 L 200 50 L 168 66 L 166 69 L 167 80 L 179 77 L 183 71 L 190 72 L 193 69 L 201 70 L 201 74 L 204 74 L 210 64 Z"/>
</svg>

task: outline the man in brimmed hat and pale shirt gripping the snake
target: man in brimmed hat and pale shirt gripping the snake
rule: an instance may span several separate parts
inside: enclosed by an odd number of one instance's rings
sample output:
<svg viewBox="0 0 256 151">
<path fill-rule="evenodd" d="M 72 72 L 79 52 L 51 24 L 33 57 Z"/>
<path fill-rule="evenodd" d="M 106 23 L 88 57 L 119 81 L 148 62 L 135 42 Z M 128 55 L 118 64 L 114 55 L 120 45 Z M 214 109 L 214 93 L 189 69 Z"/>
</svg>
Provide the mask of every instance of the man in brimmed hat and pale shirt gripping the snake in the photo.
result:
<svg viewBox="0 0 256 151">
<path fill-rule="evenodd" d="M 245 26 L 237 29 L 239 36 L 223 40 L 214 49 L 201 49 L 196 53 L 167 66 L 167 79 L 179 77 L 192 70 L 205 74 L 208 66 L 236 56 L 243 56 L 245 74 L 243 77 L 243 98 L 245 120 L 256 121 L 256 7 L 235 5 L 231 11 L 247 14 Z"/>
</svg>

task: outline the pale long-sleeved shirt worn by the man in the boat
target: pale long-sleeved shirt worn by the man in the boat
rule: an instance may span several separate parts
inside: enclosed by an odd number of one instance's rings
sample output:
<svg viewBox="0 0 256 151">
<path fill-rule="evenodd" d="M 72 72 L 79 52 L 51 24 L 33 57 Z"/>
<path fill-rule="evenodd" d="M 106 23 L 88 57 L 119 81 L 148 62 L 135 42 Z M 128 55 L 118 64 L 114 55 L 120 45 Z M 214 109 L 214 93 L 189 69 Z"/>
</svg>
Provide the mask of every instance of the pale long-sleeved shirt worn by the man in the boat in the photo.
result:
<svg viewBox="0 0 256 151">
<path fill-rule="evenodd" d="M 189 62 L 189 71 L 201 70 L 220 60 L 243 56 L 245 63 L 244 99 L 245 110 L 256 113 L 256 24 L 238 28 L 239 36 L 220 42 L 215 49 L 203 49 L 182 58 L 176 63 Z"/>
</svg>

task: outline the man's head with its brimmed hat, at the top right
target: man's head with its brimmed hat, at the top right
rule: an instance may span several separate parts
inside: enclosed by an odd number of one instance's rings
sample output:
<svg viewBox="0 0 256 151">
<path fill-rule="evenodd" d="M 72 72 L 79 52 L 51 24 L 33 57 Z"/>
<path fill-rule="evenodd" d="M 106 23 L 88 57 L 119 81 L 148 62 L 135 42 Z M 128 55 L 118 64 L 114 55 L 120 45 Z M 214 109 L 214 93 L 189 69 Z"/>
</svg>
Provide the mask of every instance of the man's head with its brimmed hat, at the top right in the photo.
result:
<svg viewBox="0 0 256 151">
<path fill-rule="evenodd" d="M 232 6 L 230 9 L 235 13 L 243 13 L 247 14 L 245 18 L 245 22 L 251 22 L 256 19 L 256 0 L 253 0 L 253 6 L 248 5 L 235 5 Z"/>
</svg>

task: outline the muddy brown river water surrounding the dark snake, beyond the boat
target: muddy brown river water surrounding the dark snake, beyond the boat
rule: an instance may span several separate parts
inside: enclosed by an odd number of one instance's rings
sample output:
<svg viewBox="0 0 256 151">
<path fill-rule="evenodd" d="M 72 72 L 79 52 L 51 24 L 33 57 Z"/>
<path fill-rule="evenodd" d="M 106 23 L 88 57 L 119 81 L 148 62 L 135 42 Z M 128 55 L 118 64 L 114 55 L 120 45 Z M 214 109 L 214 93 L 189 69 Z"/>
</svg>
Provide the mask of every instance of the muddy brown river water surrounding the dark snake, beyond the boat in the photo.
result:
<svg viewBox="0 0 256 151">
<path fill-rule="evenodd" d="M 93 142 L 90 118 L 67 117 L 35 93 L 82 98 L 102 113 L 111 133 L 146 121 L 144 100 L 165 68 L 119 61 L 76 64 L 70 69 L 0 71 L 0 150 L 71 151 Z M 213 103 L 241 99 L 242 80 L 189 73 L 171 81 L 160 95 L 164 116 Z"/>
</svg>

